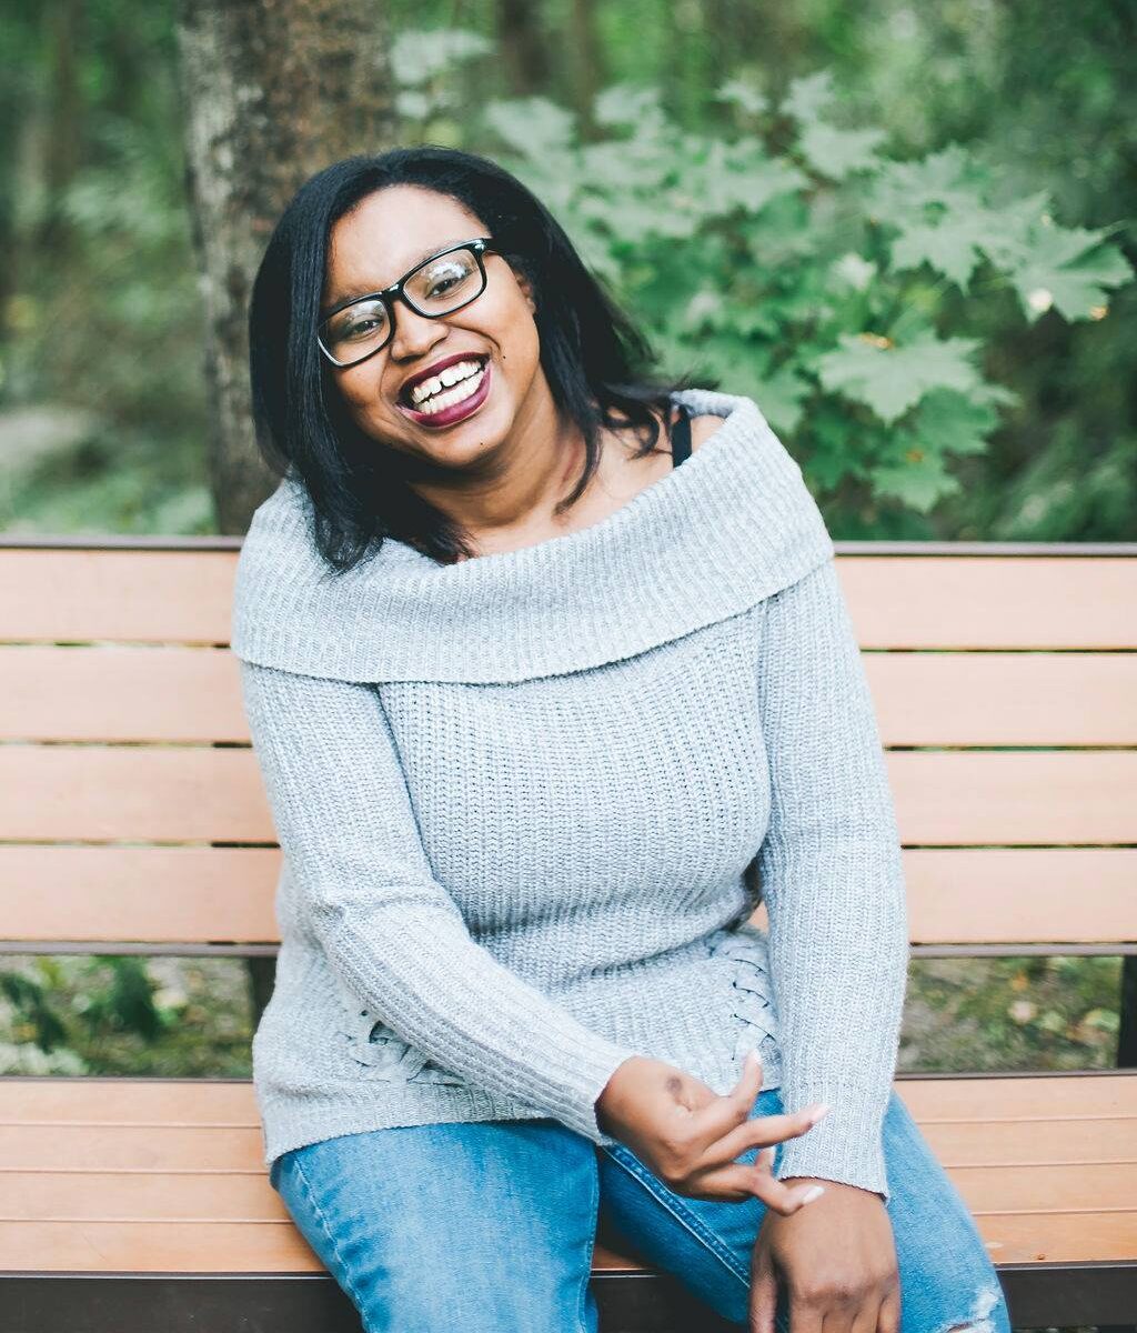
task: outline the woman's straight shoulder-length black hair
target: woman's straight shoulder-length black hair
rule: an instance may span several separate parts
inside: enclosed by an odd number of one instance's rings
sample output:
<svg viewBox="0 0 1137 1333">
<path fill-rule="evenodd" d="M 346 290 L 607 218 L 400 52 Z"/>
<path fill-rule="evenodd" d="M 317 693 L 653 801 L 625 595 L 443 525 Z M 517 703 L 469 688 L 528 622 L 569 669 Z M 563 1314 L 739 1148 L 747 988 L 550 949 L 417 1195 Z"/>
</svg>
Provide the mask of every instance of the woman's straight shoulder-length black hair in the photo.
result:
<svg viewBox="0 0 1137 1333">
<path fill-rule="evenodd" d="M 515 272 L 533 287 L 541 367 L 559 415 L 574 421 L 584 471 L 600 461 L 600 428 L 630 427 L 649 453 L 668 399 L 689 376 L 652 375 L 656 355 L 585 268 L 564 229 L 516 176 L 476 153 L 425 144 L 333 163 L 300 187 L 269 239 L 249 305 L 249 371 L 257 447 L 277 476 L 293 473 L 312 503 L 313 536 L 333 572 L 367 559 L 387 536 L 440 563 L 475 552 L 461 525 L 401 480 L 392 451 L 351 420 L 316 345 L 332 227 L 388 185 L 420 185 L 465 205 Z M 717 381 L 708 387 L 714 387 Z"/>
</svg>

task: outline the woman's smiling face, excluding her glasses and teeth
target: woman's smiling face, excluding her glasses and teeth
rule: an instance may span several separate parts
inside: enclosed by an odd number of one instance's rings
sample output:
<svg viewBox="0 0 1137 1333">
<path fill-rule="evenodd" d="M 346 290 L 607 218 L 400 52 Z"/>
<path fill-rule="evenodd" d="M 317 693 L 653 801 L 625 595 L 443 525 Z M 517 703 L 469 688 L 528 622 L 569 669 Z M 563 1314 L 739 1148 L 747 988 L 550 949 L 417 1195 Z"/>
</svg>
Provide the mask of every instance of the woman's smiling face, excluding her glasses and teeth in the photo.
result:
<svg viewBox="0 0 1137 1333">
<path fill-rule="evenodd" d="M 431 189 L 377 191 L 332 229 L 323 309 L 389 287 L 428 253 L 489 235 L 477 215 Z M 387 347 L 357 365 L 331 369 L 360 429 L 428 467 L 476 461 L 552 407 L 531 285 L 500 255 L 487 252 L 483 261 L 487 287 L 469 305 L 428 319 L 396 301 Z M 479 391 L 433 417 L 415 412 L 404 395 L 408 379 L 455 355 L 485 360 L 485 379 L 471 381 Z"/>
</svg>

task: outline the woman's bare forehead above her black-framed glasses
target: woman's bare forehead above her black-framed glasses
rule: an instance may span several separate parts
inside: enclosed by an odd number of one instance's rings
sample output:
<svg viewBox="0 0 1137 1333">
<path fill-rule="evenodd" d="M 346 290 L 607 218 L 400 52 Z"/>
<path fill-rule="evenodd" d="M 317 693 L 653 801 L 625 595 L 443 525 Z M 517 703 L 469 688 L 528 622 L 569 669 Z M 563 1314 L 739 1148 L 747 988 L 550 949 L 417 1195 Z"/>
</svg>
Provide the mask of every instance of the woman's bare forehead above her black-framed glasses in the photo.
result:
<svg viewBox="0 0 1137 1333">
<path fill-rule="evenodd" d="M 368 195 L 332 228 L 324 304 L 391 287 L 435 251 L 487 235 L 477 213 L 419 185 Z"/>
</svg>

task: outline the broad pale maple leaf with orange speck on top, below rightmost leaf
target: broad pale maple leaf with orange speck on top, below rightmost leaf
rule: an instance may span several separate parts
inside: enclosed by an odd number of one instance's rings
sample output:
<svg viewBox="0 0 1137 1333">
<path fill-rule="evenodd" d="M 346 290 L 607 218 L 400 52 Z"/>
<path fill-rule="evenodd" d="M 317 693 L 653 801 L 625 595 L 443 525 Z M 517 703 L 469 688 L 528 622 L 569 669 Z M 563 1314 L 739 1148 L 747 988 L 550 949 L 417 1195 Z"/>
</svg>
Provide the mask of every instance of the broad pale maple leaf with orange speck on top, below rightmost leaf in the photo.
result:
<svg viewBox="0 0 1137 1333">
<path fill-rule="evenodd" d="M 865 335 L 842 333 L 838 351 L 817 360 L 821 384 L 854 403 L 864 403 L 886 425 L 901 417 L 929 389 L 968 392 L 980 384 L 969 357 L 978 339 L 937 339 L 925 329 L 906 347 Z M 881 345 L 882 344 L 882 345 Z"/>
</svg>

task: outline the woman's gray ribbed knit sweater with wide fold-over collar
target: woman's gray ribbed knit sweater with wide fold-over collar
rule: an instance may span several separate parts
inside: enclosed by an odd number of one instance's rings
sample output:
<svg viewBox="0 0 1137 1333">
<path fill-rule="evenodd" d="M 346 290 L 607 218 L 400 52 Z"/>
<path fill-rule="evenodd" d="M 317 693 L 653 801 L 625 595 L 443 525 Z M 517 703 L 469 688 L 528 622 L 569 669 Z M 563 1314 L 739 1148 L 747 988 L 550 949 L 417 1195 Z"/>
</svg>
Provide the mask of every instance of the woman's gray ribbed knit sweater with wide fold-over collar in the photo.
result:
<svg viewBox="0 0 1137 1333">
<path fill-rule="evenodd" d="M 629 1056 L 832 1112 L 777 1174 L 888 1197 L 908 962 L 892 793 L 833 544 L 748 397 L 592 527 L 321 564 L 256 511 L 233 652 L 283 849 L 253 1040 L 265 1162 L 392 1125 L 555 1117 Z M 769 934 L 748 921 L 754 874 Z"/>
</svg>

